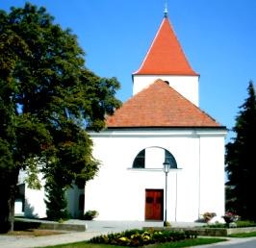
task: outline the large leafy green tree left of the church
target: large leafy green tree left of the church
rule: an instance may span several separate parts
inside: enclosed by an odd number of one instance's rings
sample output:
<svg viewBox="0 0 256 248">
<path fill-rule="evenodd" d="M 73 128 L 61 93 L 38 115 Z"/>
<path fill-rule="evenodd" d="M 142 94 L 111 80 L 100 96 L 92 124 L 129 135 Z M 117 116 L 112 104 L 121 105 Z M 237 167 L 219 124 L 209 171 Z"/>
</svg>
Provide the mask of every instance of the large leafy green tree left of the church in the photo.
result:
<svg viewBox="0 0 256 248">
<path fill-rule="evenodd" d="M 35 176 L 37 161 L 46 182 L 58 175 L 61 188 L 92 179 L 99 162 L 87 131 L 104 128 L 105 115 L 120 102 L 117 80 L 91 72 L 77 37 L 42 7 L 0 11 L 0 55 L 0 231 L 6 232 L 18 171 Z"/>
</svg>

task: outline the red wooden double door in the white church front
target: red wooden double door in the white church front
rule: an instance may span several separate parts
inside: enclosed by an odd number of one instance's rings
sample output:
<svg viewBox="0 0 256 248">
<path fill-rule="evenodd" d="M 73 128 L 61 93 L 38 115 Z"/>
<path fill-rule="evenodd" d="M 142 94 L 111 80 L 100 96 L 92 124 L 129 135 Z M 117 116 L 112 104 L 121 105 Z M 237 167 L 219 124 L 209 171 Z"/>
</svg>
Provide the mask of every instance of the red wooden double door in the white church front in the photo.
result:
<svg viewBox="0 0 256 248">
<path fill-rule="evenodd" d="M 145 189 L 145 220 L 164 219 L 164 189 Z"/>
</svg>

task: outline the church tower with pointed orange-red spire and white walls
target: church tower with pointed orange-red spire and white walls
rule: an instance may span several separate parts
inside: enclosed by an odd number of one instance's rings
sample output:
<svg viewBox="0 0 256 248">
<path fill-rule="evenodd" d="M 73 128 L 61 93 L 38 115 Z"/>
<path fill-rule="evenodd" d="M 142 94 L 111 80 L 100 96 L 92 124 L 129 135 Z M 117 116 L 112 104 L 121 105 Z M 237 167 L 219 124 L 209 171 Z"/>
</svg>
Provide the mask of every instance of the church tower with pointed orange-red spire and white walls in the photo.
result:
<svg viewBox="0 0 256 248">
<path fill-rule="evenodd" d="M 140 68 L 133 73 L 133 95 L 162 79 L 198 107 L 199 74 L 194 72 L 165 11 Z"/>
</svg>

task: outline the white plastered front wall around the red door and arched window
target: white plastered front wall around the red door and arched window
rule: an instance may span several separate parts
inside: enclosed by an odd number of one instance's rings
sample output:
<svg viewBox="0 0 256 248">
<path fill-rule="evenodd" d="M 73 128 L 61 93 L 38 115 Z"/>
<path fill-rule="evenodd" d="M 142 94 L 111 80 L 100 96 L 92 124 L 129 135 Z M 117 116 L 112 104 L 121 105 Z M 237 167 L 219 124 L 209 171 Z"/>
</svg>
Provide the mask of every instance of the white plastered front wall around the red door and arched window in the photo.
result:
<svg viewBox="0 0 256 248">
<path fill-rule="evenodd" d="M 224 212 L 224 131 L 203 136 L 193 131 L 105 131 L 91 136 L 93 155 L 102 165 L 86 186 L 85 211 L 99 211 L 98 219 L 144 220 L 145 189 L 165 190 L 163 162 L 158 162 L 159 169 L 153 169 L 155 162 L 148 164 L 151 169 L 133 169 L 132 164 L 142 149 L 153 146 L 168 150 L 180 168 L 167 177 L 169 221 Z"/>
</svg>

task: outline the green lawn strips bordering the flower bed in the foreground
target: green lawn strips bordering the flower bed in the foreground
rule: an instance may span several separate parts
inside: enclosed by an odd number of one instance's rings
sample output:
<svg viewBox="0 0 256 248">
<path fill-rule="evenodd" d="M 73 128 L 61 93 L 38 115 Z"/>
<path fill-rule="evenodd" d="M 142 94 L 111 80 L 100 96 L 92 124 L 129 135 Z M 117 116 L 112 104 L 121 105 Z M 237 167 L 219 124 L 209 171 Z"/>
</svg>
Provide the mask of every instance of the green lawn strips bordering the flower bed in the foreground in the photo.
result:
<svg viewBox="0 0 256 248">
<path fill-rule="evenodd" d="M 198 237 L 194 239 L 182 240 L 178 242 L 169 242 L 150 245 L 150 248 L 174 248 L 174 247 L 190 247 L 201 244 L 211 244 L 225 241 L 225 238 L 216 237 Z M 64 245 L 47 246 L 48 248 L 124 248 L 124 246 L 106 245 L 106 244 L 91 244 L 87 242 L 77 242 Z M 146 247 L 146 246 L 144 246 Z"/>
</svg>

